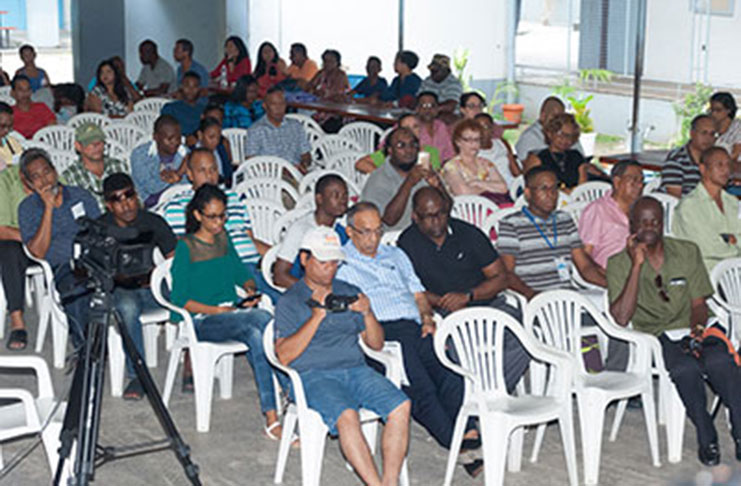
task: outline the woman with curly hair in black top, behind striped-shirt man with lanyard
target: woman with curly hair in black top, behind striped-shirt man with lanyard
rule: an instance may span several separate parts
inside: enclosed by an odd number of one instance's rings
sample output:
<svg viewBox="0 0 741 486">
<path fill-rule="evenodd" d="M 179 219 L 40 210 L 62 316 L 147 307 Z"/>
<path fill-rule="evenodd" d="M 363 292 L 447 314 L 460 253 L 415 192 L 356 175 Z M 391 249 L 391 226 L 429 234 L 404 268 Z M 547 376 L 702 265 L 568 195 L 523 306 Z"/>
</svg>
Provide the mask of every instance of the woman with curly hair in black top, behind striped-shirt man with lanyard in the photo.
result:
<svg viewBox="0 0 741 486">
<path fill-rule="evenodd" d="M 571 113 L 553 116 L 543 127 L 548 148 L 531 153 L 525 159 L 523 172 L 539 165 L 552 169 L 564 192 L 590 180 L 609 182 L 610 178 L 590 164 L 578 150 L 571 148 L 579 140 L 579 125 Z"/>
</svg>

